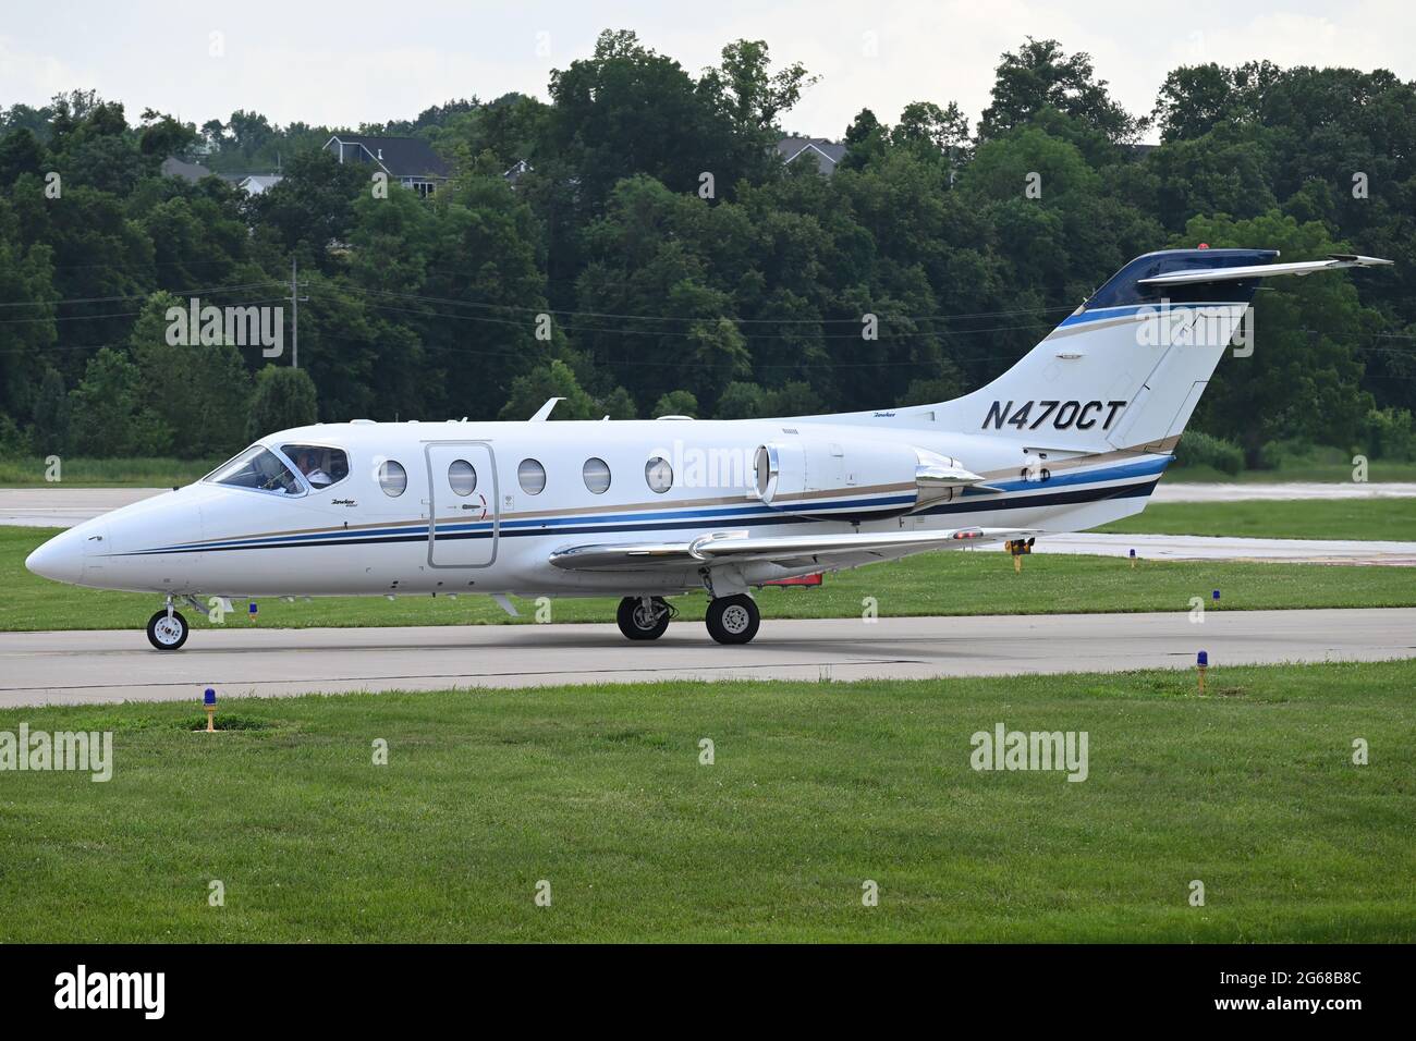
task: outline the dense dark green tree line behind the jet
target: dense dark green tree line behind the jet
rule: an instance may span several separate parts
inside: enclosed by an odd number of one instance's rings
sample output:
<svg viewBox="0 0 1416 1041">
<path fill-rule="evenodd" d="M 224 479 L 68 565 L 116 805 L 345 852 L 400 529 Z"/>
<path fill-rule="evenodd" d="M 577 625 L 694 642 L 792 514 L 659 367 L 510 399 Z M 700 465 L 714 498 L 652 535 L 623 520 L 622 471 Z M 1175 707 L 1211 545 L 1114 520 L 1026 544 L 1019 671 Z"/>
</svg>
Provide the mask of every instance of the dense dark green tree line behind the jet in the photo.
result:
<svg viewBox="0 0 1416 1041">
<path fill-rule="evenodd" d="M 1206 242 L 1396 266 L 1263 290 L 1257 350 L 1195 425 L 1250 465 L 1274 443 L 1410 456 L 1416 85 L 1195 65 L 1136 115 L 1087 55 L 1028 38 L 976 126 L 954 103 L 862 109 L 827 176 L 775 147 L 813 82 L 760 41 L 694 74 L 606 31 L 547 102 L 358 127 L 429 142 L 453 176 L 426 200 L 320 150 L 329 127 L 130 125 L 79 91 L 0 109 L 0 453 L 207 457 L 316 416 L 521 419 L 552 395 L 558 419 L 940 401 L 1131 256 Z M 283 180 L 159 171 L 197 154 Z M 167 343 L 193 297 L 289 319 L 292 262 L 299 370 Z"/>
</svg>

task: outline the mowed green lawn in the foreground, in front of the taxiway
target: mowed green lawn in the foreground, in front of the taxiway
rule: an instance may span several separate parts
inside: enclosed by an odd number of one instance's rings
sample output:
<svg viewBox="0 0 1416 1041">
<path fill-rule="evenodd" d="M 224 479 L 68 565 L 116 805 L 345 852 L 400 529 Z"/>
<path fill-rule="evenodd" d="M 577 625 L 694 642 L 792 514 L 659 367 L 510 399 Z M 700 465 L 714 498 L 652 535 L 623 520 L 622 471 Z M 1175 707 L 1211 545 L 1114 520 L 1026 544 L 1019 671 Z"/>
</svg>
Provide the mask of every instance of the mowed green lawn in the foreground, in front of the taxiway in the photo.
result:
<svg viewBox="0 0 1416 1041">
<path fill-rule="evenodd" d="M 0 940 L 1412 942 L 1413 691 L 1408 661 L 1216 669 L 1206 697 L 1147 671 L 242 700 L 218 735 L 194 705 L 8 710 L 112 729 L 115 766 L 0 773 Z M 976 772 L 998 722 L 1085 731 L 1087 779 Z"/>
</svg>

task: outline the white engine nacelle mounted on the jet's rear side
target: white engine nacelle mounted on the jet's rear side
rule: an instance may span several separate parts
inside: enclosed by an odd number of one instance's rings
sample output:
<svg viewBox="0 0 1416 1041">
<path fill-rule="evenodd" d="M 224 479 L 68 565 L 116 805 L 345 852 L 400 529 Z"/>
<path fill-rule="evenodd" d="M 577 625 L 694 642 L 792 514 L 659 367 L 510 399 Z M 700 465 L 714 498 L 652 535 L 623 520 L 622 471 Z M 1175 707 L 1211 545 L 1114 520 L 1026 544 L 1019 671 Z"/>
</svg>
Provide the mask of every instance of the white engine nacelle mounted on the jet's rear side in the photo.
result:
<svg viewBox="0 0 1416 1041">
<path fill-rule="evenodd" d="M 803 517 L 915 513 L 983 482 L 959 460 L 913 445 L 806 439 L 760 445 L 753 479 L 758 499 Z M 850 507 L 830 506 L 844 496 Z"/>
</svg>

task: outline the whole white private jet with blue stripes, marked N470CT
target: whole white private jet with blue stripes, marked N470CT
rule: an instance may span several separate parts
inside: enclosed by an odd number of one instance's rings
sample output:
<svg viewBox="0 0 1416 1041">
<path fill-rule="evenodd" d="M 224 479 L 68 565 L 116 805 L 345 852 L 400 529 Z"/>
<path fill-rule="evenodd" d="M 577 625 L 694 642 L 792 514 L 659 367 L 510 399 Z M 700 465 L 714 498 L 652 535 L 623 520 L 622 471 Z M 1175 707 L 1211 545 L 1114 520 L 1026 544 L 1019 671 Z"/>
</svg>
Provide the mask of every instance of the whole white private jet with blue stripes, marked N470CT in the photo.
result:
<svg viewBox="0 0 1416 1041">
<path fill-rule="evenodd" d="M 25 567 L 190 605 L 273 596 L 619 596 L 630 640 L 668 598 L 709 596 L 748 643 L 753 589 L 933 550 L 1024 542 L 1140 513 L 1264 278 L 1389 263 L 1276 263 L 1168 249 L 1117 272 L 1007 372 L 954 401 L 775 419 L 316 423 L 183 489 L 79 524 Z M 867 344 L 868 346 L 868 344 Z"/>
</svg>

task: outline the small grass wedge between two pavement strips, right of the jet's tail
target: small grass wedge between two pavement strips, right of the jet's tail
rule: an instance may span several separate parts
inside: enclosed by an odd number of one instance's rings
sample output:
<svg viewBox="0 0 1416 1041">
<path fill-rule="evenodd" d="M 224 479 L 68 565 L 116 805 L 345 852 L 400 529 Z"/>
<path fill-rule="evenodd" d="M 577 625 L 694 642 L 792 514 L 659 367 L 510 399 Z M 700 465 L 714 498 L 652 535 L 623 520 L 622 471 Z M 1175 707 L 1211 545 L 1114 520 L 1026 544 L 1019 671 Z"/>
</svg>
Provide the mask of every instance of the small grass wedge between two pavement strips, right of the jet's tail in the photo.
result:
<svg viewBox="0 0 1416 1041">
<path fill-rule="evenodd" d="M 1151 503 L 1103 533 L 1416 541 L 1416 499 Z"/>
</svg>

